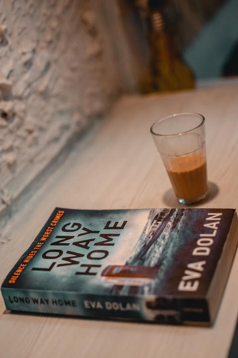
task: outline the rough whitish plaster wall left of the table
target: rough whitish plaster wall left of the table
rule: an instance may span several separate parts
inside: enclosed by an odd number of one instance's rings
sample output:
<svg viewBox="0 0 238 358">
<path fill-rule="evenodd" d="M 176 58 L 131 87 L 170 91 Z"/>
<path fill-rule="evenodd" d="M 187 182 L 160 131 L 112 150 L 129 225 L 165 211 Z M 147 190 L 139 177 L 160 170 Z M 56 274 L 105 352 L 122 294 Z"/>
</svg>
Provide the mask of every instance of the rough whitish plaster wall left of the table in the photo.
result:
<svg viewBox="0 0 238 358">
<path fill-rule="evenodd" d="M 0 1 L 0 206 L 120 88 L 96 2 Z"/>
</svg>

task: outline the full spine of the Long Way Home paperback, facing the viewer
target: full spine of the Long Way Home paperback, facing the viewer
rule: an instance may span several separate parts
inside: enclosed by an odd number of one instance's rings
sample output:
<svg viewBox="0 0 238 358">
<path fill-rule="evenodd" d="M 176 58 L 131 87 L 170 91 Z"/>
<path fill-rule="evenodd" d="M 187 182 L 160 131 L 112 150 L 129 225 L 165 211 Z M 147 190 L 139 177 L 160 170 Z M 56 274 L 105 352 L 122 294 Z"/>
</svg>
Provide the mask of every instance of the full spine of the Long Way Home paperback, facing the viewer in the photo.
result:
<svg viewBox="0 0 238 358">
<path fill-rule="evenodd" d="M 198 302 L 175 299 L 174 304 L 171 304 L 164 299 L 162 303 L 151 306 L 148 297 L 86 295 L 77 292 L 4 287 L 1 291 L 6 308 L 12 311 L 150 321 L 162 324 L 210 324 L 207 303 L 203 300 Z"/>
</svg>

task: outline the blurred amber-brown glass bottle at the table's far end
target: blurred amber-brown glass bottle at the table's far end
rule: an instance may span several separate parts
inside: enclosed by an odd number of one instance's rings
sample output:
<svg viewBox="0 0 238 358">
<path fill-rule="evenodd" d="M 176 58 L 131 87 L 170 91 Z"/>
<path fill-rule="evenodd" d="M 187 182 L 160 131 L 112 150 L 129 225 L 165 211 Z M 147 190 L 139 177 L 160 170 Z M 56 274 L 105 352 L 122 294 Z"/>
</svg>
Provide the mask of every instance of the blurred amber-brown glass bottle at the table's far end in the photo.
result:
<svg viewBox="0 0 238 358">
<path fill-rule="evenodd" d="M 148 1 L 150 68 L 141 81 L 141 91 L 150 93 L 191 89 L 194 75 L 182 60 L 164 12 L 165 0 Z"/>
</svg>

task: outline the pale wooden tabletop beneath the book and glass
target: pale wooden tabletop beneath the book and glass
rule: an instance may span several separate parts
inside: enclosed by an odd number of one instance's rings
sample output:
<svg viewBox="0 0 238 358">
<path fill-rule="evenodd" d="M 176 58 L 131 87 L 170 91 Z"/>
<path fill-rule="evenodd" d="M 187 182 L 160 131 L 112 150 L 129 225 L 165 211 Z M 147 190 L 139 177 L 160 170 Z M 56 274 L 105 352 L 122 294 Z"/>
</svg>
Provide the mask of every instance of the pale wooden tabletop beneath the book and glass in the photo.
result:
<svg viewBox="0 0 238 358">
<path fill-rule="evenodd" d="M 0 279 L 29 247 L 56 206 L 81 209 L 179 207 L 150 135 L 176 112 L 206 118 L 209 199 L 197 207 L 238 206 L 238 85 L 121 98 L 75 146 L 6 226 Z M 11 313 L 0 298 L 0 357 L 225 358 L 238 316 L 236 255 L 212 328 Z"/>
</svg>

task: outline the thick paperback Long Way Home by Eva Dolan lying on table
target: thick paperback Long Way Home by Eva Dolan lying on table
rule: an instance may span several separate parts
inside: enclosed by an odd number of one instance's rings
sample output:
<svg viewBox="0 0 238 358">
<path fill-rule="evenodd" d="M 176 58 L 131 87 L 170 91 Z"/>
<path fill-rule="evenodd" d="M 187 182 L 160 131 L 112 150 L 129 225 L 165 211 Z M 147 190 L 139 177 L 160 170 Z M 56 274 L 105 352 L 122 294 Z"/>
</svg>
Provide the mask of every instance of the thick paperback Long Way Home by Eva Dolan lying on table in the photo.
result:
<svg viewBox="0 0 238 358">
<path fill-rule="evenodd" d="M 210 326 L 235 209 L 56 208 L 1 285 L 9 310 Z"/>
</svg>

